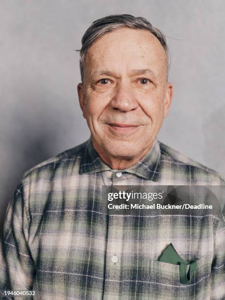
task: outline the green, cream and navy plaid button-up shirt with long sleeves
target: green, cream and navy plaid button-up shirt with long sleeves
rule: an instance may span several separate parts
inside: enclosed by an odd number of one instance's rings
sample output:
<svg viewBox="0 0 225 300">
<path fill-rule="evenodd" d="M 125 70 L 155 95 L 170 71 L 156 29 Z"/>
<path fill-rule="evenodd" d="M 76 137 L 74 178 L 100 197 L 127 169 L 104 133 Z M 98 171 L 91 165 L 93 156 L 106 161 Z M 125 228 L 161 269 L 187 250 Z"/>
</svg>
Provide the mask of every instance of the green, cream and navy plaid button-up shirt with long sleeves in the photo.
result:
<svg viewBox="0 0 225 300">
<path fill-rule="evenodd" d="M 225 182 L 157 139 L 121 171 L 104 164 L 90 140 L 39 164 L 7 209 L 0 290 L 31 289 L 43 300 L 225 299 L 222 214 L 143 218 L 101 210 L 104 185 L 192 184 Z M 183 259 L 198 259 L 188 284 L 180 283 L 179 266 L 157 261 L 170 243 Z"/>
</svg>

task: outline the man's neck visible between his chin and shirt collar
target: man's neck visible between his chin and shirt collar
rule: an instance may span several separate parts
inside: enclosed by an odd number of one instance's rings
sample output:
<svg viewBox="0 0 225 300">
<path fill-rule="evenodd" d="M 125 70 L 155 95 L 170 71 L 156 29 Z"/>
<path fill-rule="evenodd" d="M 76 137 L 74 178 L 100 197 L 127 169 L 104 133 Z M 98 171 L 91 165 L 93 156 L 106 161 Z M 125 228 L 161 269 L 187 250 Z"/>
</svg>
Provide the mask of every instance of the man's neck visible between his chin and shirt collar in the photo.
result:
<svg viewBox="0 0 225 300">
<path fill-rule="evenodd" d="M 150 150 L 150 147 L 144 149 L 134 157 L 112 156 L 110 153 L 99 147 L 94 141 L 92 141 L 92 144 L 103 162 L 114 170 L 123 170 L 135 165 Z"/>
</svg>

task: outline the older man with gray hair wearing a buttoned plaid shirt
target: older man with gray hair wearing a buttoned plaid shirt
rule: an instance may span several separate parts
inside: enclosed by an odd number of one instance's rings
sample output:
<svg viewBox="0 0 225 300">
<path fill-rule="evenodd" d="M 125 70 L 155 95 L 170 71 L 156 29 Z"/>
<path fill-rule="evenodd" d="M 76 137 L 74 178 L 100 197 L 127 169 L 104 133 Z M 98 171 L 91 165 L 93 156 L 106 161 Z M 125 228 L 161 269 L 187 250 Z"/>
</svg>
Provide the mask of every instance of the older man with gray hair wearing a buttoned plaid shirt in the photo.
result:
<svg viewBox="0 0 225 300">
<path fill-rule="evenodd" d="M 222 214 L 144 218 L 102 209 L 102 186 L 225 184 L 157 141 L 173 95 L 168 66 L 166 39 L 144 18 L 107 16 L 87 29 L 77 90 L 91 138 L 20 181 L 2 237 L 2 296 L 223 299 Z M 197 261 L 186 282 L 178 265 L 158 259 L 170 244 L 181 261 Z"/>
</svg>

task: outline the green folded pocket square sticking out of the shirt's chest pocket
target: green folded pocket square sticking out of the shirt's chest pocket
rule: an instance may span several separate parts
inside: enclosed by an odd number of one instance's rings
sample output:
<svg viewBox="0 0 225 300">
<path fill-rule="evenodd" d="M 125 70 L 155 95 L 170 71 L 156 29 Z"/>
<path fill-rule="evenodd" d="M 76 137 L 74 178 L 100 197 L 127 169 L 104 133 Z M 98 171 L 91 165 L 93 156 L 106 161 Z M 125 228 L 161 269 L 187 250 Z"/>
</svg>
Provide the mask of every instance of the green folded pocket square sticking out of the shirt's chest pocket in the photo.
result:
<svg viewBox="0 0 225 300">
<path fill-rule="evenodd" d="M 180 282 L 189 283 L 195 273 L 196 261 L 188 262 L 182 259 L 176 252 L 172 243 L 163 251 L 158 261 L 180 266 Z M 187 268 L 189 270 L 187 271 Z"/>
</svg>

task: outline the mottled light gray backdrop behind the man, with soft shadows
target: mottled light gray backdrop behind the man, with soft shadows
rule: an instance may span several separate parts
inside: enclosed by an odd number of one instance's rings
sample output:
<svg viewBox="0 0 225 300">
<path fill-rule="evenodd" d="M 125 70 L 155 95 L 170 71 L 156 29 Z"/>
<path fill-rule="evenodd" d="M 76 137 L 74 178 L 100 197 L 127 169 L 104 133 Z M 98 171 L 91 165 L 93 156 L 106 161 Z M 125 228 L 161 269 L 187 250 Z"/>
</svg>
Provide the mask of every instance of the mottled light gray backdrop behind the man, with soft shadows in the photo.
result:
<svg viewBox="0 0 225 300">
<path fill-rule="evenodd" d="M 0 0 L 0 222 L 26 170 L 88 139 L 74 49 L 122 13 L 168 36 L 174 98 L 159 140 L 225 175 L 225 1 Z"/>
</svg>

